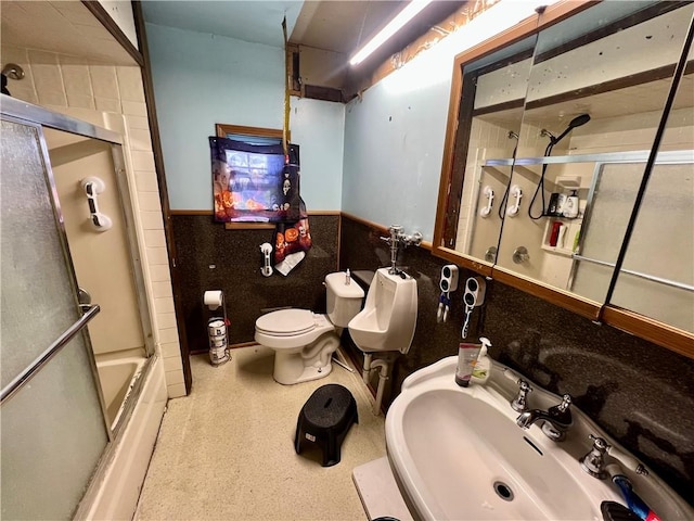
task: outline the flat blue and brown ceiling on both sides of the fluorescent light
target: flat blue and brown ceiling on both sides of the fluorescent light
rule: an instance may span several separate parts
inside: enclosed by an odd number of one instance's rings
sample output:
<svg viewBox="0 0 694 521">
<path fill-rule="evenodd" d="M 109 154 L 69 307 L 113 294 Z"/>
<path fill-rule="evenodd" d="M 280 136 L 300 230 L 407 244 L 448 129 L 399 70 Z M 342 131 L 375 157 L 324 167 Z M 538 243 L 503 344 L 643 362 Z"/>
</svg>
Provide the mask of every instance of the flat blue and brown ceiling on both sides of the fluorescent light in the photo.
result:
<svg viewBox="0 0 694 521">
<path fill-rule="evenodd" d="M 284 47 L 286 15 L 292 43 L 346 54 L 365 43 L 406 5 L 404 0 L 144 0 L 147 23 Z M 386 43 L 391 54 L 413 41 L 465 2 L 435 1 Z M 374 59 L 375 60 L 375 59 Z"/>
</svg>

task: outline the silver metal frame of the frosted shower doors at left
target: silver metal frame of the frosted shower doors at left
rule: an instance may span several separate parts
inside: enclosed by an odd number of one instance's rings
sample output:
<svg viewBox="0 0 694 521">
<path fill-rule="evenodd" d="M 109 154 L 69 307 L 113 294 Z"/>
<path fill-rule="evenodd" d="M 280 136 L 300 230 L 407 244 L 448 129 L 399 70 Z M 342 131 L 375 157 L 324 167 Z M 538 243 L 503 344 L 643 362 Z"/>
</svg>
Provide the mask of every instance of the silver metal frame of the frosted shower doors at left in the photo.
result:
<svg viewBox="0 0 694 521">
<path fill-rule="evenodd" d="M 120 212 L 124 217 L 125 227 L 126 227 L 126 237 L 128 241 L 128 257 L 130 259 L 130 269 L 131 276 L 133 280 L 133 284 L 136 288 L 136 295 L 139 307 L 139 318 L 142 327 L 143 338 L 144 338 L 144 351 L 145 351 L 145 363 L 144 367 L 141 371 L 140 377 L 133 382 L 130 393 L 121 405 L 123 411 L 120 417 L 115 425 L 111 425 L 108 420 L 108 415 L 106 411 L 106 406 L 104 402 L 104 395 L 101 386 L 101 382 L 99 380 L 99 373 L 97 371 L 97 363 L 93 350 L 91 348 L 91 339 L 89 336 L 89 331 L 86 328 L 81 329 L 81 332 L 85 333 L 87 345 L 90 347 L 87 353 L 89 358 L 89 365 L 91 367 L 92 378 L 97 382 L 95 389 L 98 392 L 98 399 L 101 405 L 101 412 L 104 422 L 104 427 L 107 435 L 107 444 L 99 459 L 97 467 L 94 468 L 92 479 L 88 484 L 86 493 L 82 497 L 82 500 L 76 506 L 76 519 L 79 519 L 80 516 L 83 516 L 83 511 L 89 508 L 90 496 L 95 494 L 95 490 L 100 486 L 100 475 L 103 475 L 111 462 L 116 457 L 116 445 L 119 437 L 119 433 L 125 430 L 125 427 L 128 424 L 130 417 L 132 416 L 133 409 L 138 403 L 138 398 L 144 386 L 145 382 L 147 382 L 147 377 L 151 372 L 151 369 L 154 366 L 154 360 L 156 359 L 156 352 L 154 345 L 154 335 L 151 320 L 151 306 L 147 300 L 146 285 L 143 266 L 141 262 L 141 247 L 140 241 L 138 238 L 139 231 L 136 226 L 136 214 L 133 209 L 132 196 L 130 192 L 130 182 L 128 181 L 126 175 L 126 163 L 124 155 L 124 139 L 123 137 L 114 132 L 112 130 L 99 127 L 97 125 L 74 118 L 72 116 L 59 114 L 51 112 L 47 109 L 33 105 L 30 103 L 23 102 L 21 100 L 16 100 L 9 96 L 2 94 L 1 97 L 2 104 L 0 106 L 2 118 L 9 122 L 13 122 L 21 125 L 30 126 L 37 129 L 38 139 L 40 142 L 40 154 L 44 161 L 44 167 L 47 171 L 48 179 L 48 190 L 50 192 L 50 199 L 53 205 L 53 213 L 55 215 L 57 221 L 57 229 L 60 234 L 61 243 L 63 244 L 63 254 L 65 256 L 65 260 L 69 271 L 73 274 L 73 280 L 75 281 L 75 294 L 77 295 L 77 281 L 75 276 L 75 266 L 72 260 L 69 244 L 67 240 L 67 234 L 64 226 L 63 214 L 61 211 L 61 204 L 55 187 L 55 181 L 53 179 L 53 173 L 50 162 L 50 156 L 48 153 L 48 145 L 46 136 L 43 134 L 43 128 L 51 128 L 64 132 L 68 132 L 72 135 L 81 136 L 85 138 L 97 139 L 103 142 L 106 142 L 111 145 L 111 156 L 113 158 L 113 165 L 115 169 L 115 177 L 117 179 L 117 190 L 118 198 L 120 201 Z M 142 242 L 144 244 L 144 242 Z M 94 306 L 95 307 L 95 306 Z M 53 354 L 56 354 L 60 348 L 55 350 Z M 48 353 L 48 351 L 46 352 Z M 46 354 L 44 353 L 44 354 Z M 48 358 L 50 359 L 50 358 Z M 46 364 L 48 359 L 43 360 Z M 38 359 L 37 359 L 38 360 Z M 37 361 L 35 360 L 35 363 Z M 40 371 L 39 366 L 36 372 Z M 33 376 L 33 373 L 31 373 Z M 29 377 L 30 378 L 30 377 Z M 26 380 L 28 381 L 28 379 Z M 25 382 L 20 382 L 17 389 L 18 391 Z M 9 387 L 10 385 L 8 385 Z M 11 398 L 11 395 L 8 396 Z M 81 513 L 80 513 L 81 512 Z"/>
</svg>

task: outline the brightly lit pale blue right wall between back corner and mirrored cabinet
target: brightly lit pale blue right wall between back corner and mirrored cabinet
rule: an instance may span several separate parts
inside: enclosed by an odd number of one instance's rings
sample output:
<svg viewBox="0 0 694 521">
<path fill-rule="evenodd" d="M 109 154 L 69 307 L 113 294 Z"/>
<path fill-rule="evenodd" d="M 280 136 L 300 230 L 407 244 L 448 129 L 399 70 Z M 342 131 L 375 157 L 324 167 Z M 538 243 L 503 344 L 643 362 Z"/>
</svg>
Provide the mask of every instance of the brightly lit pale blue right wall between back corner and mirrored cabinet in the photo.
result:
<svg viewBox="0 0 694 521">
<path fill-rule="evenodd" d="M 433 239 L 454 56 L 534 14 L 502 3 L 347 105 L 343 212 Z"/>
</svg>

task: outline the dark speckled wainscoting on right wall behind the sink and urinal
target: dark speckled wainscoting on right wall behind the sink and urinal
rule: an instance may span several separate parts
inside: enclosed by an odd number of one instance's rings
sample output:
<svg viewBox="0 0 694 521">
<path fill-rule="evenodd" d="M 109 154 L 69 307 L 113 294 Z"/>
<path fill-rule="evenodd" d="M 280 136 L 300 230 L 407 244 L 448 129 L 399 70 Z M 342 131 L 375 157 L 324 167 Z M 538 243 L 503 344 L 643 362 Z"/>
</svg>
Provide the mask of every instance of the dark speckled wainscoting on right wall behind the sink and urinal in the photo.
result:
<svg viewBox="0 0 694 521">
<path fill-rule="evenodd" d="M 389 265 L 383 230 L 347 216 L 340 229 L 342 269 Z M 463 321 L 460 290 L 448 322 L 436 321 L 445 260 L 413 246 L 399 260 L 417 281 L 419 316 L 410 353 L 395 368 L 390 399 L 407 376 L 457 354 Z M 461 285 L 472 275 L 462 270 Z M 493 343 L 492 358 L 549 391 L 571 394 L 577 407 L 694 505 L 694 360 L 496 281 L 488 281 L 470 338 L 483 334 Z M 361 353 L 348 350 L 361 364 Z"/>
</svg>

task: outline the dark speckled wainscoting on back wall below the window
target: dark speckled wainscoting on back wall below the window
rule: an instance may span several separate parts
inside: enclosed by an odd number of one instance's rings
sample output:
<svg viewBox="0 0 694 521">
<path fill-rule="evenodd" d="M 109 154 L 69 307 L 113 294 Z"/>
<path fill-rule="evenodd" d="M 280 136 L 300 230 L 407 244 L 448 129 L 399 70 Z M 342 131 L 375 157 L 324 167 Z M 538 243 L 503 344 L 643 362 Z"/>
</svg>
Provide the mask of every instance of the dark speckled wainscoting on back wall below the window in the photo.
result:
<svg viewBox="0 0 694 521">
<path fill-rule="evenodd" d="M 253 342 L 255 321 L 264 310 L 304 307 L 325 313 L 325 275 L 337 267 L 339 216 L 310 215 L 313 246 L 286 277 L 260 274 L 260 244 L 274 245 L 274 230 L 227 230 L 210 215 L 174 215 L 181 304 L 189 350 L 207 351 L 207 290 L 222 290 L 231 321 L 229 342 Z"/>
</svg>

